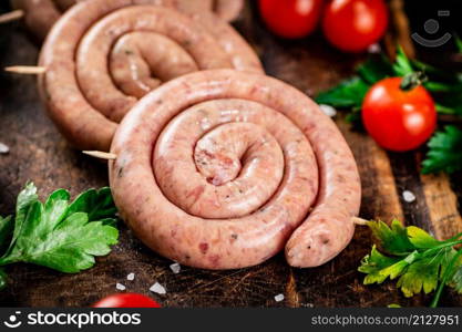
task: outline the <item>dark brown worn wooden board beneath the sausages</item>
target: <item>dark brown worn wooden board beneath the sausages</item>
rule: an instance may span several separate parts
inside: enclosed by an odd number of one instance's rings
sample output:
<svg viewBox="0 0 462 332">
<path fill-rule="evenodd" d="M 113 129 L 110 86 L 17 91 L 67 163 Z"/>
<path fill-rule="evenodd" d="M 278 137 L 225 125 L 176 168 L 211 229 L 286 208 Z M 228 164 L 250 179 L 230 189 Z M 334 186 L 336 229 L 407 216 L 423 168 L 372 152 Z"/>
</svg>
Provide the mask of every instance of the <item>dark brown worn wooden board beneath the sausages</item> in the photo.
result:
<svg viewBox="0 0 462 332">
<path fill-rule="evenodd" d="M 269 75 L 279 77 L 308 95 L 327 89 L 352 72 L 360 56 L 345 55 L 320 37 L 289 42 L 269 34 L 247 9 L 237 28 L 255 46 Z M 0 66 L 34 64 L 38 46 L 18 24 L 1 28 Z M 423 227 L 441 238 L 462 230 L 458 205 L 462 201 L 461 175 L 421 176 L 422 153 L 387 154 L 362 133 L 352 132 L 339 116 L 337 123 L 352 147 L 363 185 L 361 216 L 393 217 Z M 27 180 L 33 180 L 44 197 L 63 187 L 75 195 L 89 187 L 107 185 L 103 163 L 71 149 L 44 114 L 32 76 L 0 74 L 0 142 L 10 146 L 0 155 L 0 214 L 13 211 L 16 196 Z M 459 184 L 459 185 L 455 185 Z M 414 203 L 401 199 L 403 189 L 417 195 Z M 283 255 L 242 270 L 205 271 L 182 267 L 174 274 L 171 261 L 145 248 L 123 224 L 120 243 L 111 255 L 97 259 L 94 268 L 64 274 L 49 269 L 14 264 L 6 271 L 10 286 L 0 292 L 2 307 L 89 305 L 116 292 L 150 294 L 171 307 L 383 307 L 425 305 L 430 298 L 403 298 L 390 282 L 362 286 L 357 272 L 370 250 L 367 229 L 358 228 L 351 245 L 336 259 L 315 269 L 292 269 Z M 126 276 L 135 273 L 134 281 Z M 165 295 L 150 293 L 155 281 L 166 287 Z M 284 293 L 285 300 L 274 297 Z M 442 305 L 461 305 L 462 298 L 445 292 Z"/>
</svg>

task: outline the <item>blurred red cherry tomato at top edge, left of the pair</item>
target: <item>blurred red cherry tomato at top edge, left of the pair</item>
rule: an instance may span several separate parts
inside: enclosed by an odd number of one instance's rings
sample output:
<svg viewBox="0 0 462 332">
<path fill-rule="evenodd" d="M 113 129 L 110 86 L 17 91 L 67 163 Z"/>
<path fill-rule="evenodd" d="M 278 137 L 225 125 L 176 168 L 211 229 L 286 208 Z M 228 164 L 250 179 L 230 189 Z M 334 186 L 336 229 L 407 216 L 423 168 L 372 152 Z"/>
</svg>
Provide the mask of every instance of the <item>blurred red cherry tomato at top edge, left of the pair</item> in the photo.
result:
<svg viewBox="0 0 462 332">
<path fill-rule="evenodd" d="M 279 37 L 302 38 L 318 24 L 322 0 L 259 0 L 260 15 Z"/>
</svg>

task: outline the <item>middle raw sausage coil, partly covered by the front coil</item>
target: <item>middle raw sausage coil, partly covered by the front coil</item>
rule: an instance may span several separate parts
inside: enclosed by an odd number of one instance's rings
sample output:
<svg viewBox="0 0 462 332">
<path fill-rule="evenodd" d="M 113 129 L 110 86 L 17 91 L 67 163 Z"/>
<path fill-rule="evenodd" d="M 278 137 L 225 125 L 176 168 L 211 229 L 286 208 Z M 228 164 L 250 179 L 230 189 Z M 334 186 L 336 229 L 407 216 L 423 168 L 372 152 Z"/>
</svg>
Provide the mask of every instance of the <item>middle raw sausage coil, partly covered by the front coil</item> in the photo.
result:
<svg viewBox="0 0 462 332">
<path fill-rule="evenodd" d="M 47 68 L 41 95 L 78 148 L 107 151 L 137 98 L 178 75 L 223 68 L 263 72 L 229 24 L 212 13 L 187 17 L 166 8 L 171 1 L 83 1 L 51 30 L 40 54 Z"/>
</svg>

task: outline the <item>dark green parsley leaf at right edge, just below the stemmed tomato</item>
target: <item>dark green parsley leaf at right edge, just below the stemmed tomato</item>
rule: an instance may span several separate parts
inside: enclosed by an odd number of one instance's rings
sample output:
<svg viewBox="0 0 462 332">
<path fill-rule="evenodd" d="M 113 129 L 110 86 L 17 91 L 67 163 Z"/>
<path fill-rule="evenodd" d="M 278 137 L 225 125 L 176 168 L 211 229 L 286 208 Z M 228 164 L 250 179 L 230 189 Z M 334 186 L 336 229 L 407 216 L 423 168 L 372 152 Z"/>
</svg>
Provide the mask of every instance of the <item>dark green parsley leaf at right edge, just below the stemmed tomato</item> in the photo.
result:
<svg viewBox="0 0 462 332">
<path fill-rule="evenodd" d="M 446 126 L 429 142 L 427 158 L 422 162 L 422 173 L 453 173 L 462 169 L 462 131 Z"/>
</svg>

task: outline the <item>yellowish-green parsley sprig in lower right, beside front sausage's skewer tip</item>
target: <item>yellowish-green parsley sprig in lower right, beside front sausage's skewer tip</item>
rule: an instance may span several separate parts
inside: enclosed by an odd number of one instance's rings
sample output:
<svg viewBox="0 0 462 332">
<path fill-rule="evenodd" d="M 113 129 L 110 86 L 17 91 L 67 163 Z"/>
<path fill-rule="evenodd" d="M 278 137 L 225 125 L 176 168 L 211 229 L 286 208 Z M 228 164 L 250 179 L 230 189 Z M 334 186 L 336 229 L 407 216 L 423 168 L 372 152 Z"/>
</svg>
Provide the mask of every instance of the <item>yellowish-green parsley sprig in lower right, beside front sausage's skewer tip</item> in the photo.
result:
<svg viewBox="0 0 462 332">
<path fill-rule="evenodd" d="M 462 234 L 440 241 L 415 226 L 404 227 L 399 220 L 391 226 L 368 221 L 374 245 L 358 271 L 366 273 L 365 284 L 398 279 L 404 297 L 435 291 L 431 307 L 437 307 L 445 286 L 462 293 Z"/>
</svg>

